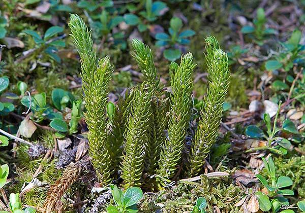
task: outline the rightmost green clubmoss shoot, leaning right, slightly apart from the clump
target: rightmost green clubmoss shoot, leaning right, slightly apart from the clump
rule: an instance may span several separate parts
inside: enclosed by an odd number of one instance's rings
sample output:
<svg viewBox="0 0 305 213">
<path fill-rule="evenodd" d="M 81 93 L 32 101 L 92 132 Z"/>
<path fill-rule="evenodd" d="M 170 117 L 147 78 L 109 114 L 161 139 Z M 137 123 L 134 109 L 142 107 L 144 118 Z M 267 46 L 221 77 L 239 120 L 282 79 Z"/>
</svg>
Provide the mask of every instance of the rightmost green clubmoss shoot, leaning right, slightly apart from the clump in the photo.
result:
<svg viewBox="0 0 305 213">
<path fill-rule="evenodd" d="M 217 139 L 223 113 L 223 103 L 229 87 L 228 56 L 220 49 L 214 37 L 207 37 L 206 60 L 209 87 L 201 110 L 201 119 L 193 139 L 189 172 L 198 175 L 210 148 Z"/>
</svg>

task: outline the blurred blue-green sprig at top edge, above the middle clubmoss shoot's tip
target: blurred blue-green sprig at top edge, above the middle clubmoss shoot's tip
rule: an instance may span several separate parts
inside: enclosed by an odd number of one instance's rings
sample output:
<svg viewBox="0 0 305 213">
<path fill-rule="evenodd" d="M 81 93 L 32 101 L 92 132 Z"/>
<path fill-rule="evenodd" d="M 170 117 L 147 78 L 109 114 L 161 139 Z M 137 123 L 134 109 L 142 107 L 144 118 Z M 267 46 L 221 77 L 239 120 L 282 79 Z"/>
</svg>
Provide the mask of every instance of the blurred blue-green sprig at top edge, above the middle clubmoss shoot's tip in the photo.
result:
<svg viewBox="0 0 305 213">
<path fill-rule="evenodd" d="M 148 24 L 156 21 L 163 14 L 161 11 L 166 8 L 166 4 L 161 1 L 145 0 L 143 2 L 145 2 L 145 11 L 139 12 L 142 19 L 132 13 L 124 15 L 125 22 L 131 26 L 137 26 L 140 32 L 147 30 Z"/>
</svg>

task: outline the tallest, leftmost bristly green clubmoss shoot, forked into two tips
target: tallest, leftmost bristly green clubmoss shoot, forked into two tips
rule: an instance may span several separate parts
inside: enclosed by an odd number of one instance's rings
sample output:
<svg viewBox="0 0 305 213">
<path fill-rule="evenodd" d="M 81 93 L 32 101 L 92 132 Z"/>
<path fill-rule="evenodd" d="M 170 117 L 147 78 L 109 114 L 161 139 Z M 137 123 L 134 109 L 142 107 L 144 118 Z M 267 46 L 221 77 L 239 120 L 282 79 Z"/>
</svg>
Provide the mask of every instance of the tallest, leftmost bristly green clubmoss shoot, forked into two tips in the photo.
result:
<svg viewBox="0 0 305 213">
<path fill-rule="evenodd" d="M 97 59 L 91 34 L 77 15 L 71 15 L 69 22 L 71 36 L 81 59 L 82 88 L 84 91 L 85 120 L 89 129 L 89 156 L 102 184 L 111 182 L 111 155 L 109 143 L 106 104 L 109 81 L 113 66 L 109 57 Z"/>
</svg>

